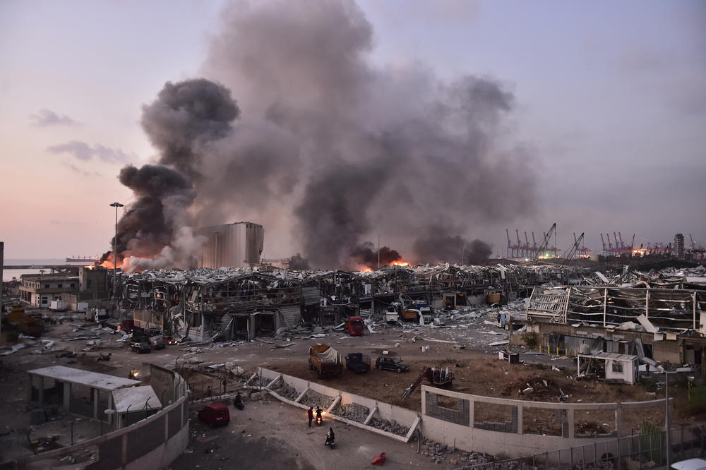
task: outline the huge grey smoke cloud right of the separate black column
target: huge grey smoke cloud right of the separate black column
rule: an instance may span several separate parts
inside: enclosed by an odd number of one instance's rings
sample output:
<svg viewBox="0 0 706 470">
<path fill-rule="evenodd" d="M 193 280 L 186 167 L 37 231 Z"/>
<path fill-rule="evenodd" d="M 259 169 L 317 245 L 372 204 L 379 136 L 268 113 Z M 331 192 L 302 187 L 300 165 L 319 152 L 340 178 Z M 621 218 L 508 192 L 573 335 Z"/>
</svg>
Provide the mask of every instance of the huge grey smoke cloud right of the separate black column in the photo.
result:
<svg viewBox="0 0 706 470">
<path fill-rule="evenodd" d="M 534 170 L 506 135 L 515 99 L 497 80 L 376 68 L 371 25 L 352 1 L 243 2 L 222 18 L 204 71 L 232 89 L 243 116 L 218 143 L 213 168 L 256 178 L 229 186 L 224 171 L 205 171 L 218 181 L 209 202 L 220 193 L 227 203 L 215 205 L 257 217 L 269 234 L 294 229 L 314 267 L 345 265 L 376 234 L 404 255 L 424 248 L 426 239 L 412 241 L 441 221 L 454 221 L 444 236 L 455 241 L 469 227 L 532 212 Z M 259 152 L 243 151 L 241 127 Z"/>
</svg>

